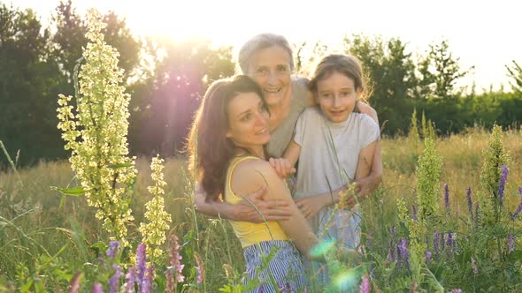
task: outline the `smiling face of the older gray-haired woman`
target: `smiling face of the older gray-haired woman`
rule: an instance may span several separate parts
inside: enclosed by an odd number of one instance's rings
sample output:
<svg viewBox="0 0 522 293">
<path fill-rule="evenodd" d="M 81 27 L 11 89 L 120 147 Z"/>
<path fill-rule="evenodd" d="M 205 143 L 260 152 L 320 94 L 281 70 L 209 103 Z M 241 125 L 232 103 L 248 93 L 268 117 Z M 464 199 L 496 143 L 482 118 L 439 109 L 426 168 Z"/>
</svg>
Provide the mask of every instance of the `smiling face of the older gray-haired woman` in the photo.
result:
<svg viewBox="0 0 522 293">
<path fill-rule="evenodd" d="M 280 46 L 256 52 L 250 60 L 248 75 L 261 86 L 268 105 L 277 104 L 290 92 L 290 54 Z"/>
</svg>

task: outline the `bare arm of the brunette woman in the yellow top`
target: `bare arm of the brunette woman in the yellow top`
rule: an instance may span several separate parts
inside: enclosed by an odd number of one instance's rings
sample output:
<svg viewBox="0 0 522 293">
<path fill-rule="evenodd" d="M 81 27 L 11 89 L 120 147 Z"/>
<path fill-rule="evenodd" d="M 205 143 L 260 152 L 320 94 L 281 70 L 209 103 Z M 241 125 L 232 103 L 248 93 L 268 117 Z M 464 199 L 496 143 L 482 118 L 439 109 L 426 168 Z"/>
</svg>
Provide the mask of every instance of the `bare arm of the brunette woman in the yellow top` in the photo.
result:
<svg viewBox="0 0 522 293">
<path fill-rule="evenodd" d="M 265 194 L 265 199 L 277 201 L 292 200 L 287 185 L 270 164 L 262 160 L 241 162 L 234 170 L 231 184 L 232 189 L 237 195 L 253 192 L 260 188 L 260 186 L 266 185 L 268 192 Z M 318 244 L 318 239 L 303 214 L 299 212 L 297 206 L 292 203 L 288 206 L 288 209 L 291 210 L 292 216 L 286 221 L 278 221 L 280 227 L 294 244 L 296 244 L 299 252 L 311 258 L 311 248 L 315 244 Z"/>
</svg>

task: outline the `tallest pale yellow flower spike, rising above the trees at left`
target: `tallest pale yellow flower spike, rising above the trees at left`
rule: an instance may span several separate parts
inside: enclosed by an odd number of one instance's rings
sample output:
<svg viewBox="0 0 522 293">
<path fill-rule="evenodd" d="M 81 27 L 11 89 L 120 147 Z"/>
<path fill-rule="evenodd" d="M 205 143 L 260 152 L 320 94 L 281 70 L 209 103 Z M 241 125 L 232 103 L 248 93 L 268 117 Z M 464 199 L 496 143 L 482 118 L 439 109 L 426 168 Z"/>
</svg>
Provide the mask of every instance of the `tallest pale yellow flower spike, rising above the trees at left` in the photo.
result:
<svg viewBox="0 0 522 293">
<path fill-rule="evenodd" d="M 79 188 L 60 191 L 85 194 L 111 239 L 127 246 L 127 223 L 134 220 L 129 203 L 137 172 L 127 148 L 130 96 L 121 86 L 119 53 L 104 41 L 105 26 L 97 11 L 88 11 L 88 44 L 79 60 L 80 71 L 77 65 L 74 74 L 75 111 L 73 96 L 59 94 L 58 129 L 63 131 L 65 149 L 71 151 L 69 162 L 81 183 Z"/>
</svg>

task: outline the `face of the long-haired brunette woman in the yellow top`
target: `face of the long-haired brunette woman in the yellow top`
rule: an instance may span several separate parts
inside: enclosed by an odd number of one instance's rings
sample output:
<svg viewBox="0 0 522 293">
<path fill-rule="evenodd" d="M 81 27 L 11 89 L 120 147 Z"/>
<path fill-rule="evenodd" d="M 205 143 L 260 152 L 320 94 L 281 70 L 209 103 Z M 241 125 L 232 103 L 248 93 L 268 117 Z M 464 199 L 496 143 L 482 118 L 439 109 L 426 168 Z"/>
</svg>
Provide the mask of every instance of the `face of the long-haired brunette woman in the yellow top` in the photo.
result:
<svg viewBox="0 0 522 293">
<path fill-rule="evenodd" d="M 268 143 L 268 111 L 256 93 L 236 95 L 228 103 L 228 124 L 226 137 L 232 139 L 234 145 L 241 146 L 258 155 Z"/>
</svg>

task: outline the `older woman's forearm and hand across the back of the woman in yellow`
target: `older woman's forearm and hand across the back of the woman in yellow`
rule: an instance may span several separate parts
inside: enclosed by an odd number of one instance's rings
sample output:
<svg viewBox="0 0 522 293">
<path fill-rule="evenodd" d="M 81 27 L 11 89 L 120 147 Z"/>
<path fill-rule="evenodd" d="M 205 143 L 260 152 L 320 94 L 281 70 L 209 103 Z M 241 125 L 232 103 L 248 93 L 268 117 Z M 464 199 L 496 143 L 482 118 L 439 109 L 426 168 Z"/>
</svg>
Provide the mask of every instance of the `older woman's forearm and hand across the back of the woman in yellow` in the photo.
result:
<svg viewBox="0 0 522 293">
<path fill-rule="evenodd" d="M 201 184 L 196 184 L 194 203 L 196 210 L 211 217 L 221 217 L 232 221 L 264 222 L 287 220 L 292 212 L 288 209 L 286 200 L 264 200 L 266 187 L 250 193 L 235 205 L 223 202 L 221 199 L 207 200 Z"/>
</svg>

